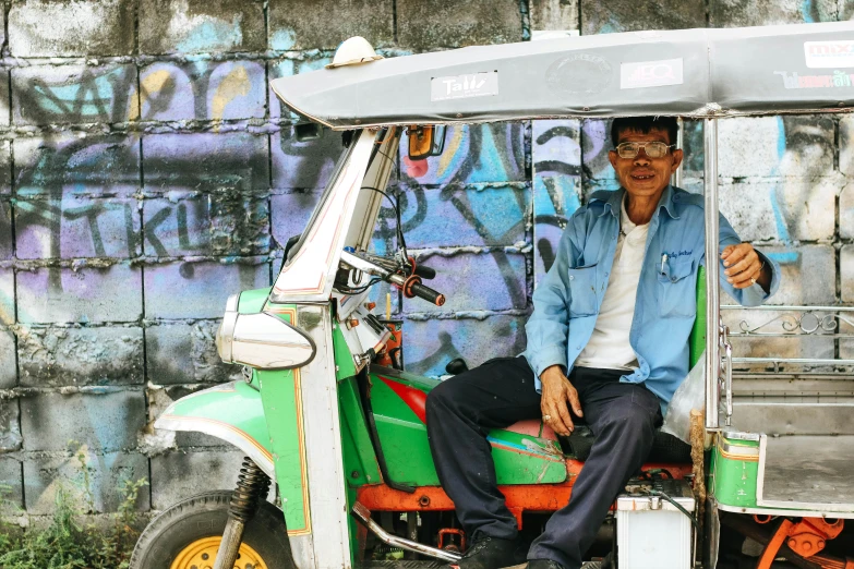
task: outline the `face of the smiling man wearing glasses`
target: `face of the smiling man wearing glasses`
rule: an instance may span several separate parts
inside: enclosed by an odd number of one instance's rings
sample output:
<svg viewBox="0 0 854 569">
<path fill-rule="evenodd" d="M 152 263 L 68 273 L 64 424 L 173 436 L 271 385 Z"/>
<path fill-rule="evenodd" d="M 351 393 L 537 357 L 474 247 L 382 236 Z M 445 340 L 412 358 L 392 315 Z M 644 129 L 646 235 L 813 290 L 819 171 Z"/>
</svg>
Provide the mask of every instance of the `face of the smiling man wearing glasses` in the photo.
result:
<svg viewBox="0 0 854 569">
<path fill-rule="evenodd" d="M 633 130 L 622 131 L 620 144 L 624 142 L 671 144 L 667 131 L 659 129 L 652 129 L 647 134 Z M 661 158 L 650 158 L 645 148 L 641 148 L 635 158 L 621 158 L 616 150 L 611 150 L 608 153 L 608 158 L 616 171 L 620 184 L 626 189 L 630 196 L 655 198 L 667 186 L 671 174 L 682 162 L 682 150 L 671 148 Z"/>
</svg>

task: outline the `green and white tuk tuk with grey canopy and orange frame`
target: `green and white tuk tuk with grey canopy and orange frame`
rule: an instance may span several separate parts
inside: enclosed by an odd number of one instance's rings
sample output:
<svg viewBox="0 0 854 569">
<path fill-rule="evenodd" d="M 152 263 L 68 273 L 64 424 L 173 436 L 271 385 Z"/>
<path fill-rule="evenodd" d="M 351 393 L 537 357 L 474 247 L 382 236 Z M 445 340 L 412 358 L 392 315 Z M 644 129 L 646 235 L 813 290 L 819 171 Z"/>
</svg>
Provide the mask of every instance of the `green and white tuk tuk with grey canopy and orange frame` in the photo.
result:
<svg viewBox="0 0 854 569">
<path fill-rule="evenodd" d="M 309 121 L 304 135 L 341 131 L 341 157 L 304 231 L 284 247 L 275 284 L 227 302 L 217 348 L 245 380 L 175 401 L 155 424 L 241 449 L 237 487 L 163 511 L 141 535 L 132 569 L 410 569 L 459 559 L 467 536 L 438 485 L 425 429 L 424 402 L 440 379 L 405 371 L 405 327 L 384 317 L 375 294 L 386 283 L 441 306 L 454 293 L 426 286 L 435 271 L 406 249 L 386 190 L 401 140 L 419 160 L 442 153 L 448 124 L 700 120 L 706 258 L 715 259 L 719 121 L 850 112 L 854 23 L 637 32 L 393 59 L 356 38 L 327 69 L 272 86 Z M 397 251 L 381 255 L 372 237 L 384 201 L 397 214 Z M 819 380 L 839 385 L 854 361 L 733 356 L 744 337 L 794 328 L 731 329 L 719 279 L 718 263 L 697 279 L 690 363 L 705 352 L 705 405 L 691 416 L 690 444 L 662 438 L 664 451 L 653 450 L 617 499 L 589 566 L 742 567 L 722 552 L 753 547 L 746 562 L 760 569 L 854 568 L 845 525 L 854 519 L 854 404 L 837 388 L 815 390 Z M 851 310 L 756 314 L 802 313 L 797 331 L 838 339 L 850 337 L 837 328 Z M 465 368 L 454 361 L 447 371 Z M 757 377 L 787 387 L 739 399 L 734 385 Z M 803 380 L 813 382 L 809 396 L 798 392 Z M 584 436 L 574 437 L 540 421 L 490 434 L 500 487 L 524 534 L 536 535 L 568 501 L 585 459 Z"/>
</svg>

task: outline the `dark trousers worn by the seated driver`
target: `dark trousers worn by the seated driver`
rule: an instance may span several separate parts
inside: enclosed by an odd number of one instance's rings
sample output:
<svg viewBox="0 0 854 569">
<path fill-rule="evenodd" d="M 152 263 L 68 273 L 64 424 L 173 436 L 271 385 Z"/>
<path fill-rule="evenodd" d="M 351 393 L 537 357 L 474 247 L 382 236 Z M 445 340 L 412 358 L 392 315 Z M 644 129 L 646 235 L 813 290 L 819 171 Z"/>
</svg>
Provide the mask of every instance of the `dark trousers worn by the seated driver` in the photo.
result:
<svg viewBox="0 0 854 569">
<path fill-rule="evenodd" d="M 569 375 L 596 438 L 569 504 L 551 517 L 528 559 L 580 569 L 611 505 L 649 455 L 661 423 L 659 400 L 642 385 L 621 384 L 623 374 L 576 367 Z M 533 379 L 525 358 L 502 358 L 443 382 L 428 397 L 428 436 L 438 479 L 469 535 L 518 535 L 498 491 L 486 435 L 542 415 Z"/>
</svg>

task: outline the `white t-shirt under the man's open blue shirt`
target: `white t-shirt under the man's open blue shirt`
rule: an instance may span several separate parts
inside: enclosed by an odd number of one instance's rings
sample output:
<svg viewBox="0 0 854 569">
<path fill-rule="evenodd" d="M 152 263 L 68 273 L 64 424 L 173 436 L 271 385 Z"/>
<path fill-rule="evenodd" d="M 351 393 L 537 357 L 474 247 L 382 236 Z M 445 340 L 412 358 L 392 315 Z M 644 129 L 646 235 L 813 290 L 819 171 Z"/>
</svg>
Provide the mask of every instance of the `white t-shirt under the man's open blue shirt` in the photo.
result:
<svg viewBox="0 0 854 569">
<path fill-rule="evenodd" d="M 637 368 L 637 355 L 628 342 L 635 317 L 640 268 L 649 223 L 636 226 L 626 213 L 626 198 L 620 208 L 621 231 L 614 252 L 614 265 L 608 278 L 605 298 L 596 320 L 593 335 L 578 354 L 575 365 L 606 370 Z"/>
</svg>

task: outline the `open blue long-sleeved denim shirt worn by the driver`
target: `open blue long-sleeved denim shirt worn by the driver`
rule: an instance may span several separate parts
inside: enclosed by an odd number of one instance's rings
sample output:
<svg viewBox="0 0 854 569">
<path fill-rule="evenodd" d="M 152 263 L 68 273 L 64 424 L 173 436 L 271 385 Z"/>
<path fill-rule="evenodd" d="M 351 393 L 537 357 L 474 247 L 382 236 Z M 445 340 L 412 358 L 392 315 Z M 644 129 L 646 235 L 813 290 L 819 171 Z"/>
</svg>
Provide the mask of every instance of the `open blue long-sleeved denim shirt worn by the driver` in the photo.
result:
<svg viewBox="0 0 854 569">
<path fill-rule="evenodd" d="M 554 265 L 533 293 L 522 355 L 537 376 L 538 391 L 540 374 L 546 367 L 558 364 L 569 375 L 590 340 L 614 262 L 624 193 L 623 189 L 597 192 L 587 206 L 576 210 L 561 238 Z M 721 216 L 719 251 L 741 242 Z M 717 259 L 721 263 L 721 286 L 744 306 L 761 304 L 780 286 L 780 267 L 761 253 L 759 256 L 772 271 L 768 294 L 759 284 L 735 289 L 726 282 L 723 263 Z M 688 374 L 697 270 L 705 263 L 703 197 L 669 185 L 649 222 L 629 332 L 639 367 L 621 379 L 646 383 L 659 397 L 662 412 Z"/>
</svg>

